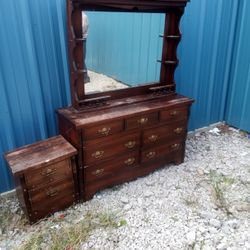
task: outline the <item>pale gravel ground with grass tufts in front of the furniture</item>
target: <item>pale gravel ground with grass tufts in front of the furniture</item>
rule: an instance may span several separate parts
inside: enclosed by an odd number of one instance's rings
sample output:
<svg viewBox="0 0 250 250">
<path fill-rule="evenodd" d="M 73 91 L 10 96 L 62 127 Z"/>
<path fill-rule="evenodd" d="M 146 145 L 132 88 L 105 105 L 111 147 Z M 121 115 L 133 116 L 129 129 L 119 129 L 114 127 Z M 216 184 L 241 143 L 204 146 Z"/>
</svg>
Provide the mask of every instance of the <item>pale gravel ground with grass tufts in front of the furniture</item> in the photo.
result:
<svg viewBox="0 0 250 250">
<path fill-rule="evenodd" d="M 0 249 L 250 249 L 250 140 L 224 125 L 196 132 L 183 164 L 33 226 L 15 197 L 0 208 Z"/>
</svg>

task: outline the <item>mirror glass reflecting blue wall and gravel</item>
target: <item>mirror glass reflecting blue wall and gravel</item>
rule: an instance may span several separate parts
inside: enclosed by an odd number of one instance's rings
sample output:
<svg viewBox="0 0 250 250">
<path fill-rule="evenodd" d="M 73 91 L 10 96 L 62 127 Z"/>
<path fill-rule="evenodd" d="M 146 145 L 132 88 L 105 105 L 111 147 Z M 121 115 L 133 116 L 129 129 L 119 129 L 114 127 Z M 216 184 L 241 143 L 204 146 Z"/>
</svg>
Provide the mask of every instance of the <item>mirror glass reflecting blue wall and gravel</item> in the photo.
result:
<svg viewBox="0 0 250 250">
<path fill-rule="evenodd" d="M 86 94 L 159 81 L 163 14 L 83 12 L 82 25 Z"/>
</svg>

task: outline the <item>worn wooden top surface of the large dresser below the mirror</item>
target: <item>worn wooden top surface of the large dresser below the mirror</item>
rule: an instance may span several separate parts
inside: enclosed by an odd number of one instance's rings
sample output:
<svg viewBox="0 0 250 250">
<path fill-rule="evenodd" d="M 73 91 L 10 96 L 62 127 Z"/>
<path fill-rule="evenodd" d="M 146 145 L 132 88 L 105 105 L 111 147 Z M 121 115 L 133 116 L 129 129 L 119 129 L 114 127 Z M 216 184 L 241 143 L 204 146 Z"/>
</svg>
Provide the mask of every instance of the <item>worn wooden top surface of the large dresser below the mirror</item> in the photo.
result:
<svg viewBox="0 0 250 250">
<path fill-rule="evenodd" d="M 92 124 L 102 123 L 107 120 L 127 118 L 138 115 L 140 113 L 150 113 L 153 111 L 171 108 L 173 106 L 189 105 L 193 102 L 193 99 L 176 95 L 172 97 L 159 98 L 151 101 L 139 102 L 131 104 L 134 101 L 134 97 L 126 98 L 123 100 L 125 105 L 118 107 L 107 106 L 106 109 L 93 111 L 81 111 L 76 110 L 73 107 L 59 109 L 58 114 L 69 120 L 76 129 L 80 129 L 84 126 L 91 126 Z"/>
</svg>

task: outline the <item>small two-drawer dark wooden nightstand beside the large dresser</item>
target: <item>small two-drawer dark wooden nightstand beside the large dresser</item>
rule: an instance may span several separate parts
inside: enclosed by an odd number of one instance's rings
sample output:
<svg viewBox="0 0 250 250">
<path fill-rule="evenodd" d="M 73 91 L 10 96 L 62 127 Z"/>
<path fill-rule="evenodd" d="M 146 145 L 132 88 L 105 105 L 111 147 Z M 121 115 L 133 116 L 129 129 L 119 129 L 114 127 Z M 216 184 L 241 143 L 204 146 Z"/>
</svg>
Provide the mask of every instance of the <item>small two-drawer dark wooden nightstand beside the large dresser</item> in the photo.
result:
<svg viewBox="0 0 250 250">
<path fill-rule="evenodd" d="M 5 155 L 20 205 L 30 222 L 64 209 L 78 199 L 76 154 L 71 144 L 56 136 Z"/>
</svg>

